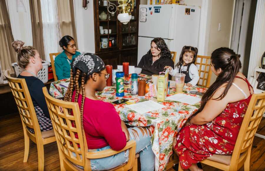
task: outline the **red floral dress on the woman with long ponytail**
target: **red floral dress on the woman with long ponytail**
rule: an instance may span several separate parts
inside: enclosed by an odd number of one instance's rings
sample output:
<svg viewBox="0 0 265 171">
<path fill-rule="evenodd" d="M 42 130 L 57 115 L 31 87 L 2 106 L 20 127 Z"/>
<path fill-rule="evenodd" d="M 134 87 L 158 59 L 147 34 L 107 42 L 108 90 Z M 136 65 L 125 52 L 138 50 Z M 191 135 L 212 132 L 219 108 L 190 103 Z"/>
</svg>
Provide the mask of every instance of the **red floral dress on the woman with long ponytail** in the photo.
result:
<svg viewBox="0 0 265 171">
<path fill-rule="evenodd" d="M 248 80 L 243 80 L 251 92 Z M 198 163 L 213 154 L 232 154 L 251 96 L 228 103 L 226 109 L 210 123 L 190 124 L 180 130 L 175 149 L 183 169 L 188 169 L 193 163 Z"/>
</svg>

